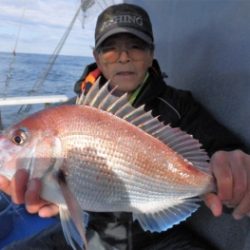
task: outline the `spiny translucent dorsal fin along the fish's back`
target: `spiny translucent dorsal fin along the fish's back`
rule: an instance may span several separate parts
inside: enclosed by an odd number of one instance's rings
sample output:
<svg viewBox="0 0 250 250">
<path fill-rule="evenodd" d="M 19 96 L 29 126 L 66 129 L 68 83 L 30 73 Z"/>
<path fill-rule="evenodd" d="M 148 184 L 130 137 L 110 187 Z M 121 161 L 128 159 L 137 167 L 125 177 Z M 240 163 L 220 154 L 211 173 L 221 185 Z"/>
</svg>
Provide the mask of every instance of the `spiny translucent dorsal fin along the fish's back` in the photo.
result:
<svg viewBox="0 0 250 250">
<path fill-rule="evenodd" d="M 145 105 L 134 108 L 129 103 L 127 94 L 121 97 L 113 95 L 116 88 L 109 90 L 109 81 L 100 88 L 99 81 L 100 78 L 89 90 L 84 99 L 84 105 L 102 109 L 128 121 L 162 141 L 200 170 L 209 172 L 209 158 L 198 140 L 179 128 L 164 125 L 158 117 L 152 116 L 151 110 L 145 111 Z"/>
</svg>

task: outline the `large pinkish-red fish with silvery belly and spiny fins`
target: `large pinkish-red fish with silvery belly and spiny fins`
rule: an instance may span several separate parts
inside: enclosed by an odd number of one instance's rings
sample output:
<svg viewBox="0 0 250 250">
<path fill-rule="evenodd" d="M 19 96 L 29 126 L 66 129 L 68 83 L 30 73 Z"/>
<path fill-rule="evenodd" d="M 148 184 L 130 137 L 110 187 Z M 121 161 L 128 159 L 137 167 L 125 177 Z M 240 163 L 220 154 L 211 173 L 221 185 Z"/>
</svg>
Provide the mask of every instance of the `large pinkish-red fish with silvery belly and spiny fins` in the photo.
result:
<svg viewBox="0 0 250 250">
<path fill-rule="evenodd" d="M 42 180 L 41 197 L 58 205 L 73 249 L 72 225 L 87 249 L 83 211 L 130 212 L 145 231 L 162 232 L 215 190 L 197 139 L 114 91 L 97 82 L 77 104 L 33 113 L 0 135 L 0 174 L 24 168 Z"/>
</svg>

